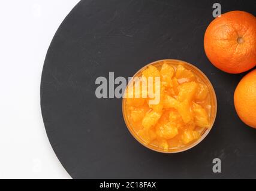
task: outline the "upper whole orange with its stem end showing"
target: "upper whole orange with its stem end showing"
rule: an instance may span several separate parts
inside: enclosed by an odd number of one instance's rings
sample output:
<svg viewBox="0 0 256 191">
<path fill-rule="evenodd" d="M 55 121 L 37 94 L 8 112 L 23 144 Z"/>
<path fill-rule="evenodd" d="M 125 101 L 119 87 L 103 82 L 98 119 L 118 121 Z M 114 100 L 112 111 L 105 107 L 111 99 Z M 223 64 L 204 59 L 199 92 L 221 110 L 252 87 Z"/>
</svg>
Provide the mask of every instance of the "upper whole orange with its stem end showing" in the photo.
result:
<svg viewBox="0 0 256 191">
<path fill-rule="evenodd" d="M 206 29 L 204 50 L 210 62 L 228 73 L 242 73 L 256 65 L 256 17 L 230 11 Z"/>
</svg>

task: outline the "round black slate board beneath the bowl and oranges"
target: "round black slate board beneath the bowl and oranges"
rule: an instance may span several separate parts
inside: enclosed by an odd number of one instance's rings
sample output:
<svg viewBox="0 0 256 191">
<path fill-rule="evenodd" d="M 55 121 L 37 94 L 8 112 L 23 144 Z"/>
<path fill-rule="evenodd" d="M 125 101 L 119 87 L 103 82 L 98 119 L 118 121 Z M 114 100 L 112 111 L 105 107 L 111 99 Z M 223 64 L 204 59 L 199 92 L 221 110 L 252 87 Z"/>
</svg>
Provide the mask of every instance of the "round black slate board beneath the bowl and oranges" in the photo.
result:
<svg viewBox="0 0 256 191">
<path fill-rule="evenodd" d="M 222 13 L 253 1 L 218 1 Z M 216 69 L 203 50 L 215 1 L 85 0 L 71 11 L 50 45 L 41 79 L 41 109 L 50 143 L 73 178 L 256 178 L 256 131 L 233 105 L 245 73 Z M 98 99 L 95 79 L 134 75 L 147 63 L 174 58 L 193 63 L 218 97 L 215 125 L 198 146 L 177 154 L 153 152 L 127 130 L 122 100 Z M 212 172 L 220 158 L 222 173 Z"/>
</svg>

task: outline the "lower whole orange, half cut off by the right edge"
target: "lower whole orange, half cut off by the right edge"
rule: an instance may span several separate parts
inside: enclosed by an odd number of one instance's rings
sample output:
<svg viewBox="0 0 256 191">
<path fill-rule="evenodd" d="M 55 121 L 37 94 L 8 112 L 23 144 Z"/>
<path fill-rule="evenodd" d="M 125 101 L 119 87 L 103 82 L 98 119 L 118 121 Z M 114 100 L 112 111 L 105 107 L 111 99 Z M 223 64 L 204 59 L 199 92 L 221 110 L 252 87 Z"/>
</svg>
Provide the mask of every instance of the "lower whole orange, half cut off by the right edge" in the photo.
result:
<svg viewBox="0 0 256 191">
<path fill-rule="evenodd" d="M 237 85 L 234 106 L 239 118 L 246 125 L 256 128 L 256 69 L 243 77 Z"/>
</svg>

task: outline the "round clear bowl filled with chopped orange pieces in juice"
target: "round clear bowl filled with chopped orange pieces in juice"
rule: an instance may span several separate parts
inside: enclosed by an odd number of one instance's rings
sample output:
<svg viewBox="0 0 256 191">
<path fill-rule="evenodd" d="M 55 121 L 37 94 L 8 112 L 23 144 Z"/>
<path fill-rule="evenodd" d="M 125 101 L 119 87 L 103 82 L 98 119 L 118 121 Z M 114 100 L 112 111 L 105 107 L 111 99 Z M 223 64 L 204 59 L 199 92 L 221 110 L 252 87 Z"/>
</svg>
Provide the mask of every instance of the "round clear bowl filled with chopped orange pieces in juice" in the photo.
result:
<svg viewBox="0 0 256 191">
<path fill-rule="evenodd" d="M 129 132 L 143 146 L 162 153 L 183 152 L 211 130 L 216 94 L 209 79 L 192 64 L 159 60 L 129 81 L 122 112 Z"/>
</svg>

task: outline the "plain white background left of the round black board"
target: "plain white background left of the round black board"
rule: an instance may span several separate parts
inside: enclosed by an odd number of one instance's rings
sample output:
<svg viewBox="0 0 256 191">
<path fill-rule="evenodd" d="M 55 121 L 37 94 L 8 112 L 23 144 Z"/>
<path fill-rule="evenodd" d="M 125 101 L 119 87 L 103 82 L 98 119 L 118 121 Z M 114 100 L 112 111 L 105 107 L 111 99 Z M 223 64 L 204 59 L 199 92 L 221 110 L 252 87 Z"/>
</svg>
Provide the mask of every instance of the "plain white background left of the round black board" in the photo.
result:
<svg viewBox="0 0 256 191">
<path fill-rule="evenodd" d="M 0 1 L 0 178 L 71 178 L 43 125 L 44 58 L 79 0 Z"/>
</svg>

